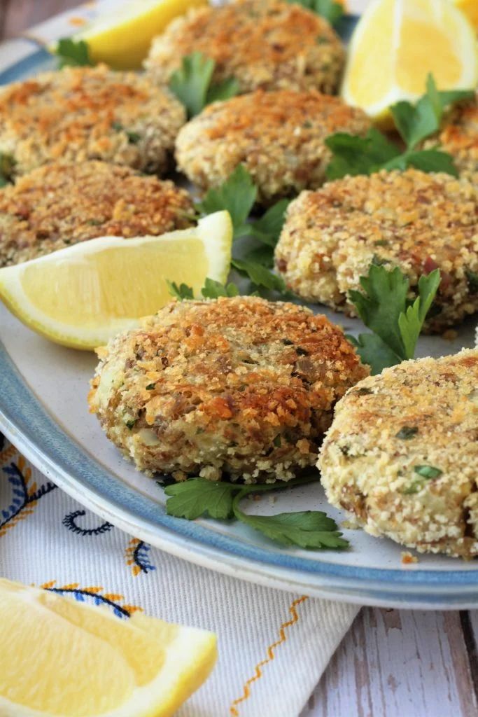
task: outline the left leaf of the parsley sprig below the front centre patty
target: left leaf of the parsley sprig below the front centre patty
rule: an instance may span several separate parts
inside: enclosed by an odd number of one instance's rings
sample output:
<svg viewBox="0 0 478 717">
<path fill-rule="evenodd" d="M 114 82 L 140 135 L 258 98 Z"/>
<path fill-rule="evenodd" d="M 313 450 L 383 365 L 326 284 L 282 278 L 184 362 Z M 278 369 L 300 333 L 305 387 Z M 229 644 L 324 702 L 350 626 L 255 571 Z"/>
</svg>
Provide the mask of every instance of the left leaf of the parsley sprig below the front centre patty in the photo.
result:
<svg viewBox="0 0 478 717">
<path fill-rule="evenodd" d="M 168 485 L 164 492 L 172 497 L 166 500 L 166 511 L 170 516 L 187 518 L 188 521 L 204 515 L 230 518 L 234 489 L 237 489 L 234 484 L 214 483 L 206 478 L 191 478 Z"/>
</svg>

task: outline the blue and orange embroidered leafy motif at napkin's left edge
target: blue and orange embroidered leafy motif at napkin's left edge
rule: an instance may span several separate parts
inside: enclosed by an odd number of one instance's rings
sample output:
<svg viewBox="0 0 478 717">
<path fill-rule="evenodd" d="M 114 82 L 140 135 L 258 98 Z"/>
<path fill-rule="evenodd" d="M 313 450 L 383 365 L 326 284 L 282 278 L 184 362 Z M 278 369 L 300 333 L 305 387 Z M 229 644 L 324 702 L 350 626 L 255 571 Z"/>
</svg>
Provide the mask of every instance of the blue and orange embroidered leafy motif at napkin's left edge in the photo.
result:
<svg viewBox="0 0 478 717">
<path fill-rule="evenodd" d="M 23 456 L 19 456 L 16 463 L 11 462 L 10 465 L 4 465 L 2 470 L 8 476 L 8 482 L 11 485 L 11 503 L 7 508 L 1 510 L 0 536 L 33 513 L 38 500 L 57 488 L 49 480 L 39 488 L 37 483 L 32 483 L 32 469 L 25 467 Z"/>
</svg>

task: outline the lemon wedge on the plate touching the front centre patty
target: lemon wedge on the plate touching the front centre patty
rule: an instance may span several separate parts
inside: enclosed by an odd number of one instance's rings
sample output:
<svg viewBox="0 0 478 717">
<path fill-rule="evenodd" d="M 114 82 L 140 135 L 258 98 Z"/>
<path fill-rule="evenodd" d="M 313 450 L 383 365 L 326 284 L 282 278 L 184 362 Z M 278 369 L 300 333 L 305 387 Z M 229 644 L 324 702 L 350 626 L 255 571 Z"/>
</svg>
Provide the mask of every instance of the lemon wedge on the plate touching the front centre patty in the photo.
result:
<svg viewBox="0 0 478 717">
<path fill-rule="evenodd" d="M 100 237 L 0 269 L 0 299 L 37 333 L 89 350 L 171 301 L 167 280 L 201 295 L 224 283 L 231 262 L 229 212 L 159 237 Z"/>
</svg>

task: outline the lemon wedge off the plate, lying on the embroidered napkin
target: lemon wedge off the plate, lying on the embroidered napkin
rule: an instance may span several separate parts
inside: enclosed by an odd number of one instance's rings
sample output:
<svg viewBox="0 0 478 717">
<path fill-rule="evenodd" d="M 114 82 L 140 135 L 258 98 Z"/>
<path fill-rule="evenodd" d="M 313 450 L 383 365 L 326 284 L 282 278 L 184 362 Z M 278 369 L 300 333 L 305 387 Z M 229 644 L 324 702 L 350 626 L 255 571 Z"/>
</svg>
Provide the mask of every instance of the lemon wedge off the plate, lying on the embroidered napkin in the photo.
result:
<svg viewBox="0 0 478 717">
<path fill-rule="evenodd" d="M 206 680 L 216 637 L 0 579 L 0 714 L 166 717 Z"/>
</svg>

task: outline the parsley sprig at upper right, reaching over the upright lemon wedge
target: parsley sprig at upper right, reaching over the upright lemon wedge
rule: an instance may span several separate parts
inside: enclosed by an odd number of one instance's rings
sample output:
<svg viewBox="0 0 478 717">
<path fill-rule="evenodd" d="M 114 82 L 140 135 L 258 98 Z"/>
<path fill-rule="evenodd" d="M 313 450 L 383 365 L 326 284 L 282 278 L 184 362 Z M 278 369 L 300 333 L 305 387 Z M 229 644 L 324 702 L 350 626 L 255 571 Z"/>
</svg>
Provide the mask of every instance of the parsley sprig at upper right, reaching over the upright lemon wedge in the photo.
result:
<svg viewBox="0 0 478 717">
<path fill-rule="evenodd" d="M 436 147 L 420 149 L 419 146 L 439 130 L 444 111 L 451 103 L 472 97 L 472 90 L 439 92 L 433 76 L 429 75 L 426 92 L 416 105 L 402 101 L 391 107 L 396 128 L 406 145 L 405 150 L 375 128 L 368 130 L 365 137 L 345 132 L 333 134 L 325 140 L 333 153 L 326 169 L 328 179 L 340 179 L 347 174 L 373 174 L 381 169 L 403 171 L 408 167 L 457 176 L 451 155 Z"/>
</svg>

